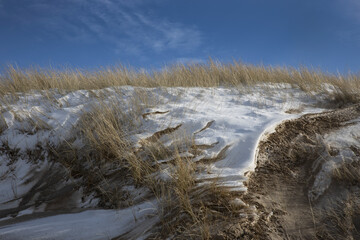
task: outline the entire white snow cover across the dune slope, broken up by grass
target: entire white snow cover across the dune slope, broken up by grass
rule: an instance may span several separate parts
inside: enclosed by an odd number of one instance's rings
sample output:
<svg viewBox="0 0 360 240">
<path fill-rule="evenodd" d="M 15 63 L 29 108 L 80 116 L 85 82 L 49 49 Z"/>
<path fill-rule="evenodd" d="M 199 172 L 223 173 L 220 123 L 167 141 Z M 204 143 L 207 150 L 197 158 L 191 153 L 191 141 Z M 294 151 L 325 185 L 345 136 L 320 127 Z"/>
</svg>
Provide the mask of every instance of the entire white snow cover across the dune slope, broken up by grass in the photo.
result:
<svg viewBox="0 0 360 240">
<path fill-rule="evenodd" d="M 5 216 L 7 209 L 20 206 L 36 180 L 42 176 L 41 173 L 52 167 L 46 156 L 34 162 L 26 159 L 26 152 L 45 149 L 49 145 L 56 146 L 73 137 L 74 127 L 81 114 L 89 111 L 99 98 L 105 102 L 117 99 L 123 103 L 119 104 L 119 108 L 124 112 L 129 112 L 137 99 L 141 98 L 147 102 L 136 103 L 141 106 L 142 114 L 162 113 L 138 116 L 137 128 L 130 133 L 135 146 L 157 131 L 181 124 L 172 136 L 163 137 L 165 145 L 179 136 L 193 136 L 197 145 L 212 146 L 194 161 L 215 157 L 222 149 L 227 149 L 223 159 L 211 163 L 207 173 L 197 177 L 219 177 L 223 185 L 241 190 L 246 190 L 243 186 L 244 174 L 255 167 L 256 146 L 264 133 L 285 119 L 322 111 L 312 105 L 314 99 L 309 99 L 302 91 L 287 85 L 255 87 L 251 91 L 229 88 L 121 87 L 68 94 L 54 92 L 52 98 L 40 93 L 22 94 L 18 100 L 2 109 L 2 147 L 6 145 L 7 149 L 16 149 L 17 154 L 24 157 L 12 159 L 4 151 L 0 152 L 0 215 L 3 214 L 0 226 L 4 225 L 4 221 L 16 219 L 20 215 L 47 211 L 46 205 L 34 205 L 24 207 L 15 216 Z M 202 130 L 205 126 L 207 128 Z M 78 144 L 81 145 L 81 141 Z M 164 169 L 159 176 L 166 177 L 166 174 Z M 71 203 L 76 208 L 96 207 L 96 199 L 81 198 L 80 190 L 72 193 L 71 197 Z M 143 230 L 143 233 L 157 222 L 158 219 L 154 217 L 155 205 L 145 202 L 121 210 L 87 210 L 19 221 L 0 227 L 0 238 L 107 239 L 129 231 L 135 234 L 132 235 L 134 237 L 139 232 L 131 230 L 141 225 L 143 228 L 139 228 L 139 231 Z"/>
</svg>

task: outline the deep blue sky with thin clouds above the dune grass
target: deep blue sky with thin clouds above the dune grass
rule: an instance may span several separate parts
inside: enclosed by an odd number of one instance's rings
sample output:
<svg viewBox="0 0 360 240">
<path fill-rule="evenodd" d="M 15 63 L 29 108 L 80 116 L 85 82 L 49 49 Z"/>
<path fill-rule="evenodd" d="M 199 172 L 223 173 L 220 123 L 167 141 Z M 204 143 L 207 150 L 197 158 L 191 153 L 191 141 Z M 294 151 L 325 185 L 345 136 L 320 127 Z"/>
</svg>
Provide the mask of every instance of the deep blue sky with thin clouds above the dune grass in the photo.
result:
<svg viewBox="0 0 360 240">
<path fill-rule="evenodd" d="M 360 0 L 0 0 L 0 65 L 360 71 Z"/>
</svg>

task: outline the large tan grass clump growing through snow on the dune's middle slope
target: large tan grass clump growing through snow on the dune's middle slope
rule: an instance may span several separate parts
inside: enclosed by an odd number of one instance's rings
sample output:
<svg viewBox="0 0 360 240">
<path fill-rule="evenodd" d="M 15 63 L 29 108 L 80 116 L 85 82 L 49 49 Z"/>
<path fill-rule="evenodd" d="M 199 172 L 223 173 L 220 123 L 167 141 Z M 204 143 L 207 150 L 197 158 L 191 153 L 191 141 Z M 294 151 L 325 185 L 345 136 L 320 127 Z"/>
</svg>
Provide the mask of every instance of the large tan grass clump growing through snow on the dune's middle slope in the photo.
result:
<svg viewBox="0 0 360 240">
<path fill-rule="evenodd" d="M 138 127 L 137 118 L 144 118 L 139 110 L 144 102 L 126 113 L 118 104 L 100 101 L 83 113 L 74 127 L 77 138 L 52 149 L 52 160 L 82 179 L 84 192 L 95 191 L 100 207 L 122 208 L 157 199 L 160 222 L 152 238 L 209 239 L 213 221 L 241 210 L 230 204 L 239 193 L 218 186 L 216 180 L 197 183 L 203 163 L 184 156 L 193 151 L 194 142 L 182 134 L 175 136 L 178 128 L 166 128 L 140 140 L 140 146 L 134 144 L 129 137 Z M 163 136 L 172 139 L 170 145 L 164 144 Z M 140 189 L 141 196 L 135 199 L 123 190 L 126 186 Z"/>
</svg>

